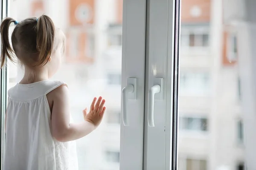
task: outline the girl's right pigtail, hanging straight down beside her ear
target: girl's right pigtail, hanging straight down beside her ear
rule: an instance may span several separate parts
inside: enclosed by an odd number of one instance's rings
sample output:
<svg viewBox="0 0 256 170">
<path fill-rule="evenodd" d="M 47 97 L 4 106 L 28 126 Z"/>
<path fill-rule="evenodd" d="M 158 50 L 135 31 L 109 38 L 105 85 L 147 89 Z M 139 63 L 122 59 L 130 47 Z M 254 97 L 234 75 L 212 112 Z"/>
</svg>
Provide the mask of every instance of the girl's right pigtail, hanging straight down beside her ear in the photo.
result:
<svg viewBox="0 0 256 170">
<path fill-rule="evenodd" d="M 47 15 L 41 15 L 37 20 L 37 51 L 39 51 L 38 65 L 45 65 L 52 54 L 55 36 L 55 26 Z"/>
</svg>

